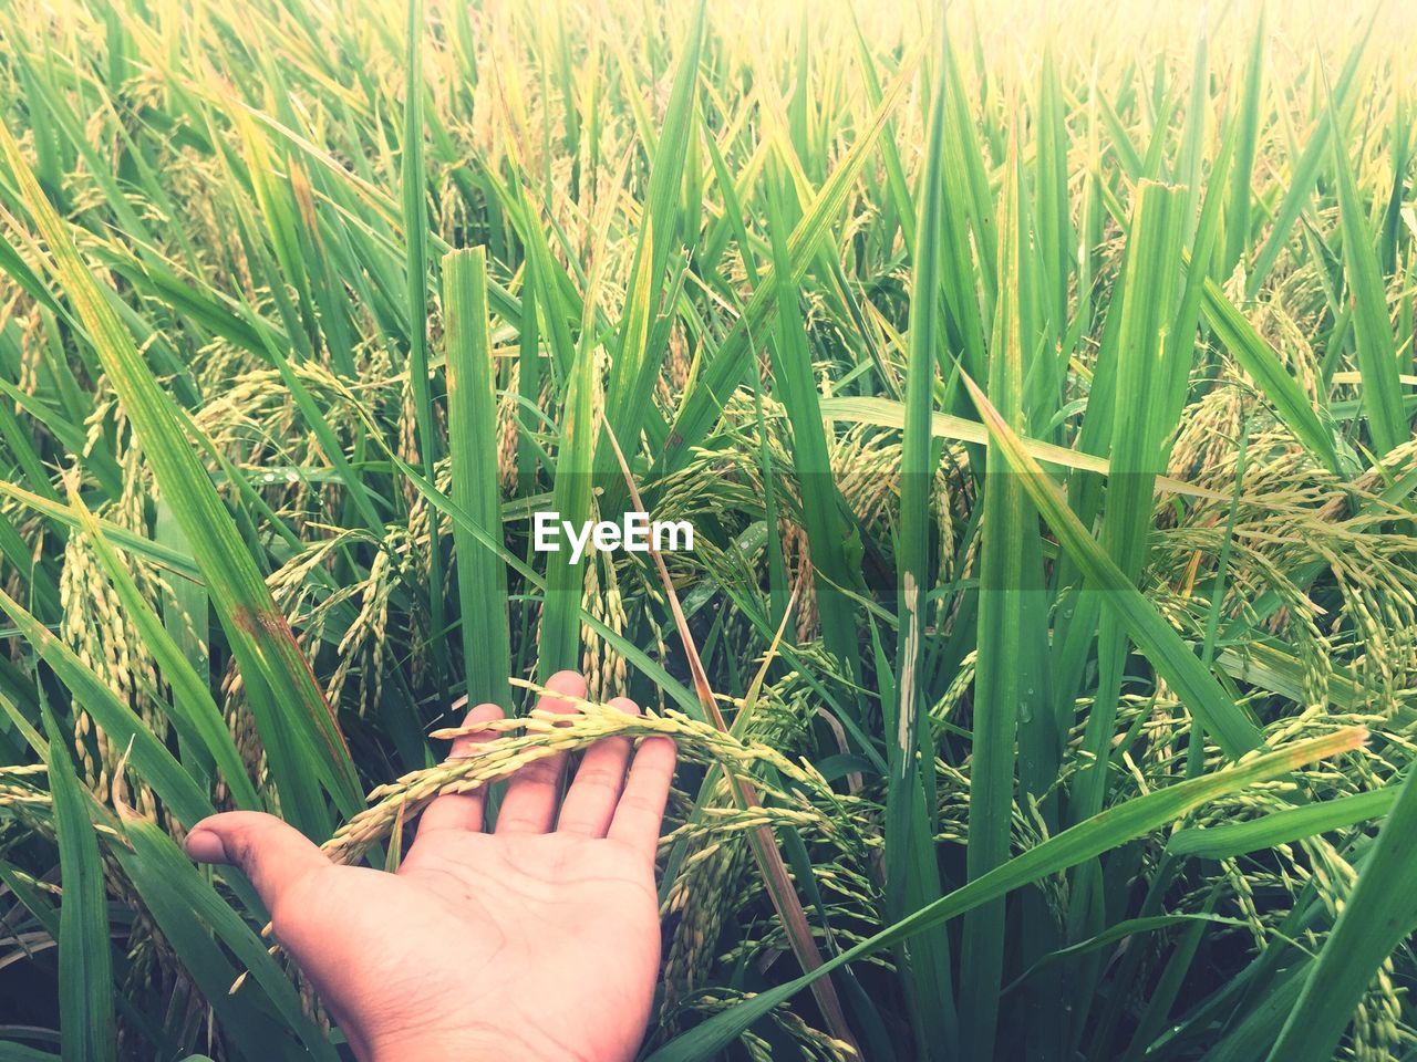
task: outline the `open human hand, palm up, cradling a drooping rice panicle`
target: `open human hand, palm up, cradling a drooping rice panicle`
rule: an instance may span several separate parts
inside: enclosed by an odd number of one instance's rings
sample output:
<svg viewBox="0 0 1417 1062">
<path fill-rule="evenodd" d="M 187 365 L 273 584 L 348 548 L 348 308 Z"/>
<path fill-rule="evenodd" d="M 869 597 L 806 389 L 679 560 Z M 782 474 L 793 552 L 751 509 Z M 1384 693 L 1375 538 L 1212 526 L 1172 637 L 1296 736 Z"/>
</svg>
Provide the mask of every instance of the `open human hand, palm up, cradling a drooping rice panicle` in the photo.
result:
<svg viewBox="0 0 1417 1062">
<path fill-rule="evenodd" d="M 585 680 L 560 671 L 547 690 L 584 698 Z M 482 704 L 468 724 L 497 718 Z M 458 738 L 451 756 L 490 736 Z M 364 1062 L 632 1059 L 659 971 L 655 850 L 674 745 L 646 739 L 626 776 L 629 758 L 628 738 L 591 746 L 560 816 L 565 753 L 523 767 L 493 833 L 480 790 L 441 796 L 397 874 L 332 864 L 255 811 L 197 823 L 187 854 L 247 872 Z"/>
</svg>

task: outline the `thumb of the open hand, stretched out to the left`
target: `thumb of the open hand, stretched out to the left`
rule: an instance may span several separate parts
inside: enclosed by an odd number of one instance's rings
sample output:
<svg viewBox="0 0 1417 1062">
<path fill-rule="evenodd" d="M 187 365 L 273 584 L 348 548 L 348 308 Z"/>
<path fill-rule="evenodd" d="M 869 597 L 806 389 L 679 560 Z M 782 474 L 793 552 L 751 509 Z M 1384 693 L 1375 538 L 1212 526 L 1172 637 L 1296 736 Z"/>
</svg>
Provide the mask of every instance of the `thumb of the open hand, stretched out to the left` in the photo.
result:
<svg viewBox="0 0 1417 1062">
<path fill-rule="evenodd" d="M 272 915 L 292 885 L 332 865 L 305 834 L 261 811 L 227 811 L 203 818 L 183 844 L 197 862 L 239 867 Z"/>
</svg>

